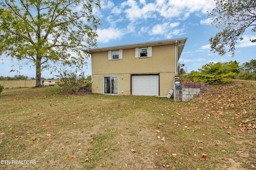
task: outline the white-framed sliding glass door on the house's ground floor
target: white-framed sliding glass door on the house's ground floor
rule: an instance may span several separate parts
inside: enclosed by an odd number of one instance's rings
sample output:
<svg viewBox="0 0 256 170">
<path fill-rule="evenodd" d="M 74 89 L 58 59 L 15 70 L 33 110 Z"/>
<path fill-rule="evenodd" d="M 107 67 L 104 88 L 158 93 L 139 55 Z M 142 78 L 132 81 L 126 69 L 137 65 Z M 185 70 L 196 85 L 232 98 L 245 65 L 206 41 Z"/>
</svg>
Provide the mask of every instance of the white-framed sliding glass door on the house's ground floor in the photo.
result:
<svg viewBox="0 0 256 170">
<path fill-rule="evenodd" d="M 118 94 L 118 76 L 104 76 L 104 94 Z"/>
</svg>

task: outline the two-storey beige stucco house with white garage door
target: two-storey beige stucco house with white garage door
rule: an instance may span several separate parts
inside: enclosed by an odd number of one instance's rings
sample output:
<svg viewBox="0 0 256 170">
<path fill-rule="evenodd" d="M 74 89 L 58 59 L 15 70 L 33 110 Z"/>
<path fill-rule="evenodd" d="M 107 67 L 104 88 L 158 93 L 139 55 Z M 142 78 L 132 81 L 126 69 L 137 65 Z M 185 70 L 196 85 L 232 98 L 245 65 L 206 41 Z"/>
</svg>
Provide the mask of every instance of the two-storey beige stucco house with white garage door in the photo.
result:
<svg viewBox="0 0 256 170">
<path fill-rule="evenodd" d="M 92 93 L 166 96 L 187 38 L 90 49 Z"/>
</svg>

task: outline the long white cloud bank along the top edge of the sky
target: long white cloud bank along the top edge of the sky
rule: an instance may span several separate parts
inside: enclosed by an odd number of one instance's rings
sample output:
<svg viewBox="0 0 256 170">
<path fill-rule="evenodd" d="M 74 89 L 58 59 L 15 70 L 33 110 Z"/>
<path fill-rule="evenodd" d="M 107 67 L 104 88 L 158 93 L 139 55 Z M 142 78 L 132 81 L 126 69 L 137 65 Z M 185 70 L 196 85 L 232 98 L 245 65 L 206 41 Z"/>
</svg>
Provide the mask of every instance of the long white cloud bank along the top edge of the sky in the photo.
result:
<svg viewBox="0 0 256 170">
<path fill-rule="evenodd" d="M 184 20 L 191 13 L 206 14 L 207 11 L 212 10 L 214 7 L 214 0 L 168 0 L 168 2 L 166 0 L 156 0 L 154 3 L 146 3 L 146 0 L 139 0 L 139 3 L 135 0 L 127 0 L 120 7 L 114 7 L 112 13 L 120 14 L 121 11 L 125 12 L 126 18 L 131 21 L 156 16 Z"/>
</svg>

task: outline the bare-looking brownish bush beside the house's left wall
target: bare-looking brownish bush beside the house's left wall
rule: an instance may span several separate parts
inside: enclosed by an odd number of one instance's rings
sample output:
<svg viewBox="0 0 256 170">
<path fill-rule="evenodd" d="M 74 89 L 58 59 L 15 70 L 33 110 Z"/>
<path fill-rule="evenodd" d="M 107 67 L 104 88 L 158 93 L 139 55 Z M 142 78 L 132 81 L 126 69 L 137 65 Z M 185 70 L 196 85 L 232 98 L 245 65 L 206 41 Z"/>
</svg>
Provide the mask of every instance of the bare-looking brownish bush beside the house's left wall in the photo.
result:
<svg viewBox="0 0 256 170">
<path fill-rule="evenodd" d="M 58 76 L 59 80 L 57 84 L 60 86 L 60 91 L 62 93 L 73 93 L 77 94 L 79 89 L 84 85 L 89 84 L 82 76 L 82 74 L 77 75 L 77 70 L 75 72 L 63 72 Z"/>
</svg>

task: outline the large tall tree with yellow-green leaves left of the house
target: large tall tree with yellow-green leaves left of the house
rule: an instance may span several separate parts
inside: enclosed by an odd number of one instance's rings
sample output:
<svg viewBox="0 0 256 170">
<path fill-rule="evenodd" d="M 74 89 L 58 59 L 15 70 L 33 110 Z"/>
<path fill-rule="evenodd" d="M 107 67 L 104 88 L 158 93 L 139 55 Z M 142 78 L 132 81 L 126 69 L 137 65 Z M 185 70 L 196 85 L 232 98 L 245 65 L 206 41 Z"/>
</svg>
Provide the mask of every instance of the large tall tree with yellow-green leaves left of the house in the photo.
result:
<svg viewBox="0 0 256 170">
<path fill-rule="evenodd" d="M 32 62 L 36 86 L 41 71 L 53 63 L 85 66 L 83 49 L 96 47 L 100 24 L 94 8 L 100 8 L 100 0 L 1 1 L 0 55 Z"/>
</svg>

